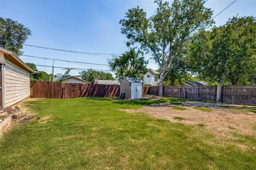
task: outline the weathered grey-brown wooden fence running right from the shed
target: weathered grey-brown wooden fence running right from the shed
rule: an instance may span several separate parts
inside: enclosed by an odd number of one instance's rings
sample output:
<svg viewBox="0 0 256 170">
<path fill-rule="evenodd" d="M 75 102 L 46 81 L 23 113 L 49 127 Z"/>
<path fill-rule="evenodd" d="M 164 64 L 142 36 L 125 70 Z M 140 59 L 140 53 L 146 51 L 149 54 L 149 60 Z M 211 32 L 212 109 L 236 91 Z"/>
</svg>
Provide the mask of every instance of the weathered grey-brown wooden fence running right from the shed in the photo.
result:
<svg viewBox="0 0 256 170">
<path fill-rule="evenodd" d="M 149 95 L 158 95 L 159 87 L 150 87 Z M 166 97 L 215 101 L 217 86 L 164 86 Z M 256 105 L 256 86 L 222 86 L 221 101 L 233 104 Z"/>
</svg>

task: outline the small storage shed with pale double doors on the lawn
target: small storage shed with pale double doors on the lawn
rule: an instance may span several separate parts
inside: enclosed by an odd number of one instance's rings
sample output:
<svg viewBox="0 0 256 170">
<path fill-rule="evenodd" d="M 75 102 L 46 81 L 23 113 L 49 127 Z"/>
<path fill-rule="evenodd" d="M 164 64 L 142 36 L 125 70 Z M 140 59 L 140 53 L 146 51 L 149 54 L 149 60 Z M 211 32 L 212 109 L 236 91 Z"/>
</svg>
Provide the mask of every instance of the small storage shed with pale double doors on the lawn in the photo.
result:
<svg viewBox="0 0 256 170">
<path fill-rule="evenodd" d="M 143 82 L 139 78 L 124 78 L 120 82 L 120 94 L 125 93 L 125 99 L 143 97 Z"/>
</svg>

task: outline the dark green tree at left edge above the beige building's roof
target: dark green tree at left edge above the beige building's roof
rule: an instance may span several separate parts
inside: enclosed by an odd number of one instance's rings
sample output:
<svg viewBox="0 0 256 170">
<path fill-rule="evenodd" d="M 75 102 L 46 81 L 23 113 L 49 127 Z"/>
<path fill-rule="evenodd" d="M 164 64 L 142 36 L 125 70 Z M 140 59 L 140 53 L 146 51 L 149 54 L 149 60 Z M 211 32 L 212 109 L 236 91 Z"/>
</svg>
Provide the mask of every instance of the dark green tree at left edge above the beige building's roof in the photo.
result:
<svg viewBox="0 0 256 170">
<path fill-rule="evenodd" d="M 23 53 L 20 49 L 30 35 L 31 31 L 23 24 L 0 17 L 1 47 L 9 49 L 19 56 Z"/>
</svg>

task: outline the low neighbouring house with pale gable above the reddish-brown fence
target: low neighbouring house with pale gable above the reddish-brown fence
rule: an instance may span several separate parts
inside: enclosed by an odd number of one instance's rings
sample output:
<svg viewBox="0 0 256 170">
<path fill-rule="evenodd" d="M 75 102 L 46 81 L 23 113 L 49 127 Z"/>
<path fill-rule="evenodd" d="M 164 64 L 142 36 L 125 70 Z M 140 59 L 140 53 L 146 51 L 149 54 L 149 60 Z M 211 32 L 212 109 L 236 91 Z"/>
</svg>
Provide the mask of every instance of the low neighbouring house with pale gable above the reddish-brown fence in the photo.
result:
<svg viewBox="0 0 256 170">
<path fill-rule="evenodd" d="M 54 75 L 53 78 L 54 81 L 59 81 L 62 83 L 91 83 L 89 81 L 85 81 L 82 79 L 82 77 L 75 77 L 75 76 L 64 76 L 61 73 L 57 73 Z"/>
</svg>

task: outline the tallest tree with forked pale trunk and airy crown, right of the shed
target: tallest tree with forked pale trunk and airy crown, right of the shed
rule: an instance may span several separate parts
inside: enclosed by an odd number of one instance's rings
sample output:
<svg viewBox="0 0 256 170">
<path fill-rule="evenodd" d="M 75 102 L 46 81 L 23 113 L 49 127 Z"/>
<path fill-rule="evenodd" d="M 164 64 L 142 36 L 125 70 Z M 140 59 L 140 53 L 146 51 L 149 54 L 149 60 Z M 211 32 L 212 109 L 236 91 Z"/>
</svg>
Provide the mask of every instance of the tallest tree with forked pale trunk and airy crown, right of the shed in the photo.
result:
<svg viewBox="0 0 256 170">
<path fill-rule="evenodd" d="M 163 80 L 166 69 L 175 56 L 183 55 L 183 43 L 197 30 L 212 24 L 210 8 L 204 0 L 155 1 L 157 9 L 147 18 L 146 12 L 132 8 L 122 19 L 122 33 L 128 38 L 127 45 L 140 45 L 159 66 L 159 95 L 163 95 Z"/>
</svg>

